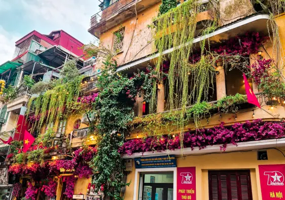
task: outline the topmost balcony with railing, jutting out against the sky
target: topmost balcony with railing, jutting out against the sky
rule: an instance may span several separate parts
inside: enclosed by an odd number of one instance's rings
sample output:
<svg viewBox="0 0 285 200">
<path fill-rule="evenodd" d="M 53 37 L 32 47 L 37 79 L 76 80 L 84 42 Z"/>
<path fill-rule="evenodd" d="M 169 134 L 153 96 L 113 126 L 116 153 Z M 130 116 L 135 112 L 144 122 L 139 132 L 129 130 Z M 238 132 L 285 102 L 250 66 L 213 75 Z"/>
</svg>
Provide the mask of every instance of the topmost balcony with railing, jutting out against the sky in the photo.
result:
<svg viewBox="0 0 285 200">
<path fill-rule="evenodd" d="M 101 32 L 135 16 L 135 12 L 141 12 L 160 1 L 161 0 L 119 0 L 91 17 L 88 32 L 99 38 Z"/>
</svg>

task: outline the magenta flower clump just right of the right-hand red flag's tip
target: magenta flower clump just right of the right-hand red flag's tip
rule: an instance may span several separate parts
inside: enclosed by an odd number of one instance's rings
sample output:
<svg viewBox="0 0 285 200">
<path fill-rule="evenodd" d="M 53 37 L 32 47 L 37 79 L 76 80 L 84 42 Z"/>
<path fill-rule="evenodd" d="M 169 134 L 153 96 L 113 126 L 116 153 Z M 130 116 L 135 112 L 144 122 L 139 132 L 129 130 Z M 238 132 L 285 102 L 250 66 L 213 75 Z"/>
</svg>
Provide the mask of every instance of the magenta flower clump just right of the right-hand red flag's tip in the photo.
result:
<svg viewBox="0 0 285 200">
<path fill-rule="evenodd" d="M 268 70 L 270 69 L 271 64 L 272 64 L 271 59 L 267 60 L 263 59 L 263 60 L 257 60 L 257 62 L 249 66 L 254 81 L 257 85 L 260 84 L 261 78 L 267 78 L 269 76 Z"/>
</svg>

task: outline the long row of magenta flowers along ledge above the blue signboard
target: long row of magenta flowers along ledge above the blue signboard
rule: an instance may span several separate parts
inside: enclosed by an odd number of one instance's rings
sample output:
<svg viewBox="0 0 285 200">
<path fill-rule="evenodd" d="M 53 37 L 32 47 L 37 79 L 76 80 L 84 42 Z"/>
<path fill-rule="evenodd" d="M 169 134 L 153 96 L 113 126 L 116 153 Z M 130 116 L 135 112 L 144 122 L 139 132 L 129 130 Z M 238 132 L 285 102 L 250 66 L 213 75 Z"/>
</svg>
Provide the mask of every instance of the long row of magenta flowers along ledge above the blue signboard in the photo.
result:
<svg viewBox="0 0 285 200">
<path fill-rule="evenodd" d="M 262 122 L 261 119 L 253 123 L 235 123 L 226 127 L 224 123 L 212 129 L 189 131 L 184 134 L 184 147 L 205 148 L 208 145 L 220 144 L 221 150 L 226 150 L 227 144 L 236 145 L 238 142 L 257 141 L 285 137 L 285 122 Z M 136 152 L 163 151 L 166 149 L 180 149 L 179 136 L 148 137 L 125 142 L 119 149 L 121 154 L 131 155 Z"/>
</svg>

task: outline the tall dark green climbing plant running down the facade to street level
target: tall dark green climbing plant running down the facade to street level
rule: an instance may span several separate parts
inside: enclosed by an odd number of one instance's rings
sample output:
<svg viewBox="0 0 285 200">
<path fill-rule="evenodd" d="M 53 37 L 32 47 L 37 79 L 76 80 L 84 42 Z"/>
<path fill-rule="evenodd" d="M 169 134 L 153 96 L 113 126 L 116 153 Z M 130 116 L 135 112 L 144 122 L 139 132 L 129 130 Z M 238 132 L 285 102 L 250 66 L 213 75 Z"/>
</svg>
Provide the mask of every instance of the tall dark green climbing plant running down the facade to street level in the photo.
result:
<svg viewBox="0 0 285 200">
<path fill-rule="evenodd" d="M 127 133 L 127 124 L 133 118 L 132 107 L 137 89 L 134 80 L 118 76 L 116 68 L 114 60 L 107 60 L 98 78 L 100 93 L 93 104 L 94 121 L 90 125 L 90 132 L 95 129 L 99 141 L 97 154 L 90 165 L 94 171 L 99 172 L 94 174 L 96 188 L 104 184 L 105 195 L 122 199 L 121 188 L 126 184 L 122 182 L 124 165 L 118 149 Z"/>
</svg>

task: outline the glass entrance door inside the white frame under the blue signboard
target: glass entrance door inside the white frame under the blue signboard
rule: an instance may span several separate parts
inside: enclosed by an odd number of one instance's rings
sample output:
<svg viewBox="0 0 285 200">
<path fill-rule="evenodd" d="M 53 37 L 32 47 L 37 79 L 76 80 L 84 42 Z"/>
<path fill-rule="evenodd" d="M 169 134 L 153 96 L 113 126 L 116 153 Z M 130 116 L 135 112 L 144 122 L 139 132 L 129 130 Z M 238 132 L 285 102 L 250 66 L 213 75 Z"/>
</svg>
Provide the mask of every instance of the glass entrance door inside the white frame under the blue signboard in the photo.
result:
<svg viewBox="0 0 285 200">
<path fill-rule="evenodd" d="M 140 196 L 142 200 L 172 200 L 173 174 L 141 174 Z"/>
</svg>

